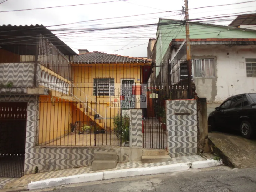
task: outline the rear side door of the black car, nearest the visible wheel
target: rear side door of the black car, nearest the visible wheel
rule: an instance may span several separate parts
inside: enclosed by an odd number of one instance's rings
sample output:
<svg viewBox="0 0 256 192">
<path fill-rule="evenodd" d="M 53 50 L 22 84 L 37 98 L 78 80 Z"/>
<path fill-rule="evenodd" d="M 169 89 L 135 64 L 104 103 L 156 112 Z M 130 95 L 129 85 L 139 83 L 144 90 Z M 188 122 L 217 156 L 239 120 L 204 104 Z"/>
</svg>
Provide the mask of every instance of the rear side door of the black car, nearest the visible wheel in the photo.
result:
<svg viewBox="0 0 256 192">
<path fill-rule="evenodd" d="M 232 98 L 230 107 L 226 110 L 226 127 L 231 130 L 239 128 L 240 112 L 245 95 L 238 95 Z"/>
</svg>

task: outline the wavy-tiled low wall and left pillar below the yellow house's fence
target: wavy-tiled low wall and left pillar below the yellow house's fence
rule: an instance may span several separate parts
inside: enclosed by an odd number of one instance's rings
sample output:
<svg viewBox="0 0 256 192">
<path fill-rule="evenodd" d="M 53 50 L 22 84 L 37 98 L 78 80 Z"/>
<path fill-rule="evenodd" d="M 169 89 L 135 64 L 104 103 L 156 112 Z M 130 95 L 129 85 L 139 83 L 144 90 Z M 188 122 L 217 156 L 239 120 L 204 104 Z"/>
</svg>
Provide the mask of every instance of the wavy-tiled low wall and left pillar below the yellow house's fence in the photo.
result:
<svg viewBox="0 0 256 192">
<path fill-rule="evenodd" d="M 131 161 L 129 147 L 39 147 L 37 130 L 39 125 L 39 103 L 37 96 L 0 95 L 0 102 L 27 102 L 27 128 L 24 174 L 54 171 L 74 167 L 91 166 L 96 151 L 116 151 L 118 162 Z M 1 103 L 0 103 L 1 105 Z"/>
</svg>

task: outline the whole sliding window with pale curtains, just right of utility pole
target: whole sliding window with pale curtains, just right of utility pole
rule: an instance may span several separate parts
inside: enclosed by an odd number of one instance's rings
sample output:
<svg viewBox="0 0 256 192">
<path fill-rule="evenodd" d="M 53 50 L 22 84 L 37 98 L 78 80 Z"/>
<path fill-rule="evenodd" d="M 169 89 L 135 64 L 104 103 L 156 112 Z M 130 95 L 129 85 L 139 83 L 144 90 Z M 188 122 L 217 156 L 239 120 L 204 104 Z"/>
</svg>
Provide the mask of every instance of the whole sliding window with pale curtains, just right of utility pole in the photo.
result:
<svg viewBox="0 0 256 192">
<path fill-rule="evenodd" d="M 215 77 L 214 59 L 193 59 L 195 77 Z"/>
</svg>

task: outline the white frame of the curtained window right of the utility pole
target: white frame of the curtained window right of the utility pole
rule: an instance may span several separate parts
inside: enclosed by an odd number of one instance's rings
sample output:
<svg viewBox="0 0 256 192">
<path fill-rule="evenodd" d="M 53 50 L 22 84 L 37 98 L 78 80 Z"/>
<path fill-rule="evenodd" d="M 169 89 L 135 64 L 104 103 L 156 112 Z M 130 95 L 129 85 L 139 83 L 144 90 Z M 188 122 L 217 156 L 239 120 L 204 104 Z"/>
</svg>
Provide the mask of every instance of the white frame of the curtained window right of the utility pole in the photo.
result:
<svg viewBox="0 0 256 192">
<path fill-rule="evenodd" d="M 204 60 L 204 64 L 202 64 L 202 60 Z M 209 70 L 210 70 L 210 60 L 212 60 L 212 67 L 213 67 L 213 76 L 205 76 L 205 60 L 209 61 Z M 195 61 L 199 61 L 199 65 L 200 65 L 200 76 L 197 76 L 197 68 L 196 68 L 196 62 Z M 204 68 L 202 67 L 204 66 Z M 195 58 L 192 59 L 192 67 L 193 67 L 193 77 L 195 78 L 215 78 L 216 74 L 215 74 L 215 58 Z M 209 71 L 210 72 L 210 71 Z"/>
</svg>

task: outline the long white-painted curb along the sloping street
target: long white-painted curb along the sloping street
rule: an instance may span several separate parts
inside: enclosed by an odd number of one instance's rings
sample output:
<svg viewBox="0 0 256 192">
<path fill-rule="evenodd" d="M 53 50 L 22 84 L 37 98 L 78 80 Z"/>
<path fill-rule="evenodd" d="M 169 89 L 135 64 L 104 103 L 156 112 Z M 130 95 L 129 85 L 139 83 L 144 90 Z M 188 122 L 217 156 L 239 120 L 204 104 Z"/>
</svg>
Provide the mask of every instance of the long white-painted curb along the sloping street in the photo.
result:
<svg viewBox="0 0 256 192">
<path fill-rule="evenodd" d="M 131 176 L 153 175 L 160 173 L 172 173 L 177 171 L 186 171 L 190 168 L 206 168 L 212 166 L 219 166 L 221 163 L 216 160 L 196 161 L 193 163 L 177 163 L 172 165 L 162 165 L 154 167 L 142 167 L 131 169 L 120 169 L 113 171 L 103 171 L 98 173 L 85 173 L 81 175 L 73 175 L 68 177 L 52 178 L 42 181 L 31 182 L 28 185 L 29 190 L 42 189 L 48 187 L 56 187 L 60 185 L 67 185 L 72 183 L 84 183 L 89 181 L 101 181 L 114 178 L 123 178 Z"/>
</svg>

